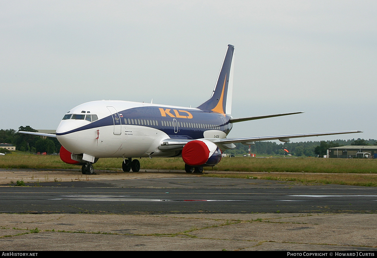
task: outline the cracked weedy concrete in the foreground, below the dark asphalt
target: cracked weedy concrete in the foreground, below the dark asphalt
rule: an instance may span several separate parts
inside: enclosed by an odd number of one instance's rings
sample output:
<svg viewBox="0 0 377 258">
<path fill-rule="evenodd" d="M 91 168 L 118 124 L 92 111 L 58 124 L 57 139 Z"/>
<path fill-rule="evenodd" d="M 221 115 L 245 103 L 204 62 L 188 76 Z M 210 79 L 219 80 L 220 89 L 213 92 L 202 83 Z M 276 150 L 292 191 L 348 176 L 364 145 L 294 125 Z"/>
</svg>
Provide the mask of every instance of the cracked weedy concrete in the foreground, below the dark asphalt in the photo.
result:
<svg viewBox="0 0 377 258">
<path fill-rule="evenodd" d="M 376 251 L 376 219 L 345 213 L 0 214 L 0 248 Z"/>
</svg>

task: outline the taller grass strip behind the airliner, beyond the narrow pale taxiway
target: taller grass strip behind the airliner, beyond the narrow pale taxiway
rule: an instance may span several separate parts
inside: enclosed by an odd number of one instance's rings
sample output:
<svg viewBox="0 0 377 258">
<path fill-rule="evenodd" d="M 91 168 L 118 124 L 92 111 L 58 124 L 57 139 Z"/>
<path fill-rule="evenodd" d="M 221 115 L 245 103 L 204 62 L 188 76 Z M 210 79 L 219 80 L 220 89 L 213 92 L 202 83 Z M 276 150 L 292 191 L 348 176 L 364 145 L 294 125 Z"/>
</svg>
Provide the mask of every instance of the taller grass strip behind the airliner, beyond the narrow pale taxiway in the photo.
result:
<svg viewBox="0 0 377 258">
<path fill-rule="evenodd" d="M 184 169 L 181 158 L 142 158 L 139 159 L 143 169 Z M 123 159 L 99 159 L 95 169 L 119 169 Z M 79 168 L 66 164 L 59 156 L 51 155 L 6 155 L 0 157 L 0 168 Z M 212 171 L 212 168 L 205 168 Z M 225 157 L 213 167 L 214 171 L 243 172 L 305 172 L 305 173 L 355 173 L 377 174 L 377 159 L 323 159 L 323 158 L 251 158 Z"/>
</svg>

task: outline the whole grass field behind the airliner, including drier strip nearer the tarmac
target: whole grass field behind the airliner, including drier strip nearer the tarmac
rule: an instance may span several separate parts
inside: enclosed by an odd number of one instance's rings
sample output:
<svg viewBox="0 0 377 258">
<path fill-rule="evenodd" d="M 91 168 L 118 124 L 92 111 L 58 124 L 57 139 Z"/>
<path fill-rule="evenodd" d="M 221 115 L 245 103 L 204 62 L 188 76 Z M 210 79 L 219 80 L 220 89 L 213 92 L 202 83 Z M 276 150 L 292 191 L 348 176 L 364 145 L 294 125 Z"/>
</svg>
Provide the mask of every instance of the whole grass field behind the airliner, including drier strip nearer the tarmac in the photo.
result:
<svg viewBox="0 0 377 258">
<path fill-rule="evenodd" d="M 121 170 L 123 159 L 99 159 L 95 169 Z M 143 158 L 143 169 L 184 169 L 181 158 Z M 0 156 L 0 168 L 80 169 L 60 160 L 59 156 L 32 155 L 14 152 Z M 377 186 L 377 160 L 323 158 L 252 158 L 225 157 L 213 169 L 205 168 L 203 176 L 244 177 L 303 183 L 334 183 L 343 185 Z M 216 171 L 237 171 L 216 173 Z"/>
</svg>

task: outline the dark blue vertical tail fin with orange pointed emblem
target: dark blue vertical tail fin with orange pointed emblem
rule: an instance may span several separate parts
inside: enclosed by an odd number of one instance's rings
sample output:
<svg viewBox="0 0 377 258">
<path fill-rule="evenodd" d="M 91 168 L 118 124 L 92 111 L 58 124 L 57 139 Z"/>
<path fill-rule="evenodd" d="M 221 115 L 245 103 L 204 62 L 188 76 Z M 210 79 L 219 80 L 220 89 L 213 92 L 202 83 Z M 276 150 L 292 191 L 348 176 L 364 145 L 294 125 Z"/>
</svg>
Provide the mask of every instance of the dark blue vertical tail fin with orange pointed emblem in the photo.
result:
<svg viewBox="0 0 377 258">
<path fill-rule="evenodd" d="M 220 114 L 230 114 L 233 88 L 233 69 L 231 70 L 233 55 L 234 46 L 228 45 L 211 98 L 198 108 Z"/>
</svg>

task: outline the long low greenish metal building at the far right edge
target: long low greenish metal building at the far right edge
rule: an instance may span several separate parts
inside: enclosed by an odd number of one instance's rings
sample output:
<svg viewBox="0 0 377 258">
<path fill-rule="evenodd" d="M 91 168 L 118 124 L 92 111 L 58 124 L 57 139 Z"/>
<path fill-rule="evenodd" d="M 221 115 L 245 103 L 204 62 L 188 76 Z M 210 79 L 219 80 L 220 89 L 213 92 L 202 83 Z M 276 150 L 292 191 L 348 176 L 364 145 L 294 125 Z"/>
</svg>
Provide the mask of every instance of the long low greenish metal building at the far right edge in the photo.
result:
<svg viewBox="0 0 377 258">
<path fill-rule="evenodd" d="M 377 158 L 377 146 L 375 145 L 348 145 L 327 149 L 329 158 Z"/>
</svg>

